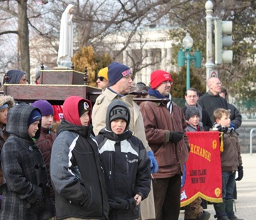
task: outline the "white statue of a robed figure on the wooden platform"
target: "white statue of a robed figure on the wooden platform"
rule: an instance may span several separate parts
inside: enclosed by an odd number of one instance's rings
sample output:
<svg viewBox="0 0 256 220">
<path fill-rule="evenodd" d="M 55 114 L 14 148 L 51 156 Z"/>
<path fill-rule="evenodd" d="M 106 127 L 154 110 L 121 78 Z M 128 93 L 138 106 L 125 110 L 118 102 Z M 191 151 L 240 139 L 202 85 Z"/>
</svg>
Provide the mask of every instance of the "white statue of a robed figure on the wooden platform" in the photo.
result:
<svg viewBox="0 0 256 220">
<path fill-rule="evenodd" d="M 67 67 L 71 69 L 73 56 L 73 22 L 72 12 L 74 6 L 69 4 L 62 14 L 60 22 L 60 44 L 58 51 L 58 67 Z"/>
</svg>

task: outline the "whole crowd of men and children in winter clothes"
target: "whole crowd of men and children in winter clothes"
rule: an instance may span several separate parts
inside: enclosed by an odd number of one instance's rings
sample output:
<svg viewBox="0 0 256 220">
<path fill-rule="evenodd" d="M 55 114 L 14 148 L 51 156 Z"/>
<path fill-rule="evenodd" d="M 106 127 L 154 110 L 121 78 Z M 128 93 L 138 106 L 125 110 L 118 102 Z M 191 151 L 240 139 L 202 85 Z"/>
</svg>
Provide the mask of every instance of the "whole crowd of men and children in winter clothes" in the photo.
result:
<svg viewBox="0 0 256 220">
<path fill-rule="evenodd" d="M 22 71 L 8 76 L 8 83 L 26 83 Z M 46 100 L 0 96 L 0 219 L 178 220 L 187 132 L 216 130 L 223 137 L 223 201 L 214 203 L 214 217 L 241 220 L 233 210 L 235 180 L 243 178 L 241 115 L 219 78 L 207 80 L 202 96 L 189 88 L 184 108 L 172 99 L 171 74 L 161 69 L 151 73 L 149 87 L 137 84 L 148 94 L 139 103 L 129 94 L 126 65 L 111 62 L 96 83 L 102 93 L 94 105 L 69 96 L 56 105 L 61 112 Z M 196 197 L 185 206 L 185 220 L 210 219 L 201 203 Z"/>
</svg>

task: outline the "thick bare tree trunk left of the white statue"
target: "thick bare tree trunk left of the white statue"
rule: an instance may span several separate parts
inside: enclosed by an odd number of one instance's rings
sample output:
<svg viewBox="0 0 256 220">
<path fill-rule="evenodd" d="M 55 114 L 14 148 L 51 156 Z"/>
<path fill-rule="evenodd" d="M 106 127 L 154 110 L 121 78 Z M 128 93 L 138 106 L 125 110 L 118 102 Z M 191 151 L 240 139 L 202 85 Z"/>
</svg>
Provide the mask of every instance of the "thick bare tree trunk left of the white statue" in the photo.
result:
<svg viewBox="0 0 256 220">
<path fill-rule="evenodd" d="M 22 71 L 26 72 L 26 77 L 30 79 L 29 60 L 29 32 L 27 16 L 27 0 L 18 1 L 18 33 L 20 42 L 20 57 Z"/>
</svg>

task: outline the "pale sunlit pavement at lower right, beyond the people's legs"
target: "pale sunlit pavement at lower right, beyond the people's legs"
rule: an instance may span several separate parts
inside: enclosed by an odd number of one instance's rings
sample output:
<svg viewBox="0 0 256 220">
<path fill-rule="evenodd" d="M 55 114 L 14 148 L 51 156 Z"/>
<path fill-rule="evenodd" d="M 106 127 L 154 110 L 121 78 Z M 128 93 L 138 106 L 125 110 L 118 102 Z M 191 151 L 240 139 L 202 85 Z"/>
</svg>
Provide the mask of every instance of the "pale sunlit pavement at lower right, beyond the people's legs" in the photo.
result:
<svg viewBox="0 0 256 220">
<path fill-rule="evenodd" d="M 256 219 L 256 154 L 242 155 L 244 178 L 237 182 L 237 200 L 235 207 L 237 217 L 244 220 Z M 213 205 L 207 205 L 207 212 L 211 213 L 210 220 L 214 220 Z M 180 211 L 179 220 L 184 219 L 184 211 Z M 216 219 L 215 219 L 216 220 Z"/>
</svg>

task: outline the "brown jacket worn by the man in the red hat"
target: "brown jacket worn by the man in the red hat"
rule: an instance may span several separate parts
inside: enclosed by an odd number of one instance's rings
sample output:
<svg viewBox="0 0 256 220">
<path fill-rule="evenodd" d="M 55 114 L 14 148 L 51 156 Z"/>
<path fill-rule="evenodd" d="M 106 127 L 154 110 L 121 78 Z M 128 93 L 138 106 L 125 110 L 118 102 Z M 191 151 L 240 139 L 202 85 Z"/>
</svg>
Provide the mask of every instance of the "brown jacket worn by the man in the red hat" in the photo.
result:
<svg viewBox="0 0 256 220">
<path fill-rule="evenodd" d="M 155 97 L 151 96 L 151 99 Z M 186 135 L 186 120 L 182 110 L 173 103 L 172 111 L 163 103 L 143 101 L 140 105 L 146 137 L 155 159 L 158 162 L 158 172 L 154 178 L 169 178 L 182 174 L 183 165 L 189 155 L 189 141 Z M 177 144 L 169 142 L 169 133 L 183 132 L 183 139 Z"/>
</svg>

